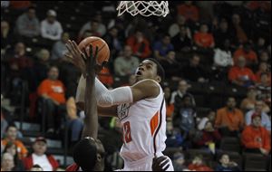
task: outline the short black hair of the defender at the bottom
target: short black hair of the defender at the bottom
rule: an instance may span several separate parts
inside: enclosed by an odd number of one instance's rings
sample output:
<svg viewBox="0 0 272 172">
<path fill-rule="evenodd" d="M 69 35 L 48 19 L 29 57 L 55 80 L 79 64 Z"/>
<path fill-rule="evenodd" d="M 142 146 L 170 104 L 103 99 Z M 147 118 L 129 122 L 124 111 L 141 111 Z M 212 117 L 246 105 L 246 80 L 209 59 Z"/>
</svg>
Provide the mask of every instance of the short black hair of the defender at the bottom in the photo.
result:
<svg viewBox="0 0 272 172">
<path fill-rule="evenodd" d="M 97 148 L 95 140 L 91 138 L 81 139 L 73 147 L 73 160 L 84 171 L 92 171 L 96 164 Z"/>
</svg>

